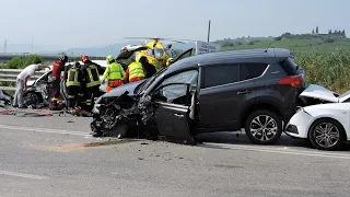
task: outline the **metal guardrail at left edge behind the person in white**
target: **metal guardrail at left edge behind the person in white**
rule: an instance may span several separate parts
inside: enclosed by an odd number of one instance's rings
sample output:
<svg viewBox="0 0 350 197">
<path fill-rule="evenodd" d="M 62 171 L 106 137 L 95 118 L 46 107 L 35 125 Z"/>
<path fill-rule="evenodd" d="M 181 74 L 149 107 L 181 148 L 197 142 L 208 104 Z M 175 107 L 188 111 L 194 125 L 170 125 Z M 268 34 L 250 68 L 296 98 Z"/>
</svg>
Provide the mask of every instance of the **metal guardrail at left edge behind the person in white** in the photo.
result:
<svg viewBox="0 0 350 197">
<path fill-rule="evenodd" d="M 0 82 L 10 82 L 11 86 L 0 86 L 0 90 L 15 90 L 18 76 L 22 69 L 0 69 Z M 42 77 L 46 71 L 36 71 L 31 80 L 36 80 Z"/>
</svg>

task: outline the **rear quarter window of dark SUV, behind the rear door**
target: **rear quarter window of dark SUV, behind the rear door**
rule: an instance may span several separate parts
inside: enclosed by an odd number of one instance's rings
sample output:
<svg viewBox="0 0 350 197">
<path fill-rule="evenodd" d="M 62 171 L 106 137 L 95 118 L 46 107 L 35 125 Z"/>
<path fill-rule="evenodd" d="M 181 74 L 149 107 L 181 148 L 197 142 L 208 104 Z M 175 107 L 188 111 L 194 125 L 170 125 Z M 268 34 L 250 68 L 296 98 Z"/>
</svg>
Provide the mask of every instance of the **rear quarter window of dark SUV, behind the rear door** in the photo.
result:
<svg viewBox="0 0 350 197">
<path fill-rule="evenodd" d="M 267 66 L 267 63 L 240 63 L 240 81 L 261 76 Z"/>
</svg>

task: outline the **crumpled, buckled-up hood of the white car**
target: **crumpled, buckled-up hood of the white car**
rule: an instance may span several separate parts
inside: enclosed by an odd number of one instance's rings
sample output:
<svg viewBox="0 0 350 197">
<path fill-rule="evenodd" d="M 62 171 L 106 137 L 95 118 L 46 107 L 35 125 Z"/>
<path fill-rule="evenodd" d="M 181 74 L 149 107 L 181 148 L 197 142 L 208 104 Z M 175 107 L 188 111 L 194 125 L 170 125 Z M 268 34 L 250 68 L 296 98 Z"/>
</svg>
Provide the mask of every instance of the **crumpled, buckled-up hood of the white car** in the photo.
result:
<svg viewBox="0 0 350 197">
<path fill-rule="evenodd" d="M 339 103 L 339 94 L 324 86 L 311 84 L 300 95 L 300 97 L 312 97 L 327 102 Z"/>
</svg>

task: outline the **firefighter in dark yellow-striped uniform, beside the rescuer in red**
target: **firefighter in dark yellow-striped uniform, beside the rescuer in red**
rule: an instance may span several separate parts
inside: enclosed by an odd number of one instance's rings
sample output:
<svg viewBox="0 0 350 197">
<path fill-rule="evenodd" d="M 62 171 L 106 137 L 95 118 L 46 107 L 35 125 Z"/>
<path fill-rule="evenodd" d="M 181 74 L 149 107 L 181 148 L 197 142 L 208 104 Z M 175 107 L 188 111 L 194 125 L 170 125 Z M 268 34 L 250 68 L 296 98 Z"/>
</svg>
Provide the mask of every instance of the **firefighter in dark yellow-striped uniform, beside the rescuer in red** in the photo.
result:
<svg viewBox="0 0 350 197">
<path fill-rule="evenodd" d="M 81 99 L 84 95 L 81 86 L 81 83 L 83 81 L 81 65 L 79 62 L 75 62 L 72 67 L 68 68 L 66 74 L 68 108 L 78 108 L 80 107 Z"/>
</svg>

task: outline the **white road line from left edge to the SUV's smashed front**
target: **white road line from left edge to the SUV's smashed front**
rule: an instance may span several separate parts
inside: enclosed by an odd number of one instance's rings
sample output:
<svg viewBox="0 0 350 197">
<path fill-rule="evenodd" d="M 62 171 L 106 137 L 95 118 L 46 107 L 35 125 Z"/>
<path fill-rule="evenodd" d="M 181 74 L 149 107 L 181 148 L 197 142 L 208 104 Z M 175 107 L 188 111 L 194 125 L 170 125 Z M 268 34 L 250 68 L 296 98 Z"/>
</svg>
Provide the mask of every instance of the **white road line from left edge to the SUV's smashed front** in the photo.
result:
<svg viewBox="0 0 350 197">
<path fill-rule="evenodd" d="M 74 135 L 74 136 L 90 137 L 89 134 L 81 132 L 81 131 L 34 128 L 34 127 L 18 127 L 18 126 L 10 126 L 10 125 L 0 125 L 0 129 L 28 130 L 28 131 L 36 131 L 36 132 L 49 132 L 49 134 L 61 134 L 61 135 Z"/>
</svg>

